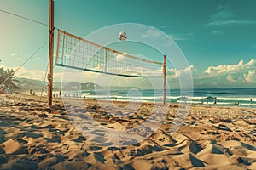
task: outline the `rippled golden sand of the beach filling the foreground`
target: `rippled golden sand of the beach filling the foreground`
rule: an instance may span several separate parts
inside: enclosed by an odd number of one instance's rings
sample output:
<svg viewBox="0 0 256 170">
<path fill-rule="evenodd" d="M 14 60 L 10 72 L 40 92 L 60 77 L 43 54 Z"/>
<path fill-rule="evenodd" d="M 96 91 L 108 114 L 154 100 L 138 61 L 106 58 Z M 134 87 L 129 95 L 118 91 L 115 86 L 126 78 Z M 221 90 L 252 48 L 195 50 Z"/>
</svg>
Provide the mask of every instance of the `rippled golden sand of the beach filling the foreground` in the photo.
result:
<svg viewBox="0 0 256 170">
<path fill-rule="evenodd" d="M 61 98 L 49 109 L 46 98 L 0 95 L 0 169 L 256 169 L 255 108 L 192 105 L 183 126 L 173 133 L 178 105 L 171 104 L 165 121 L 148 139 L 113 147 L 79 133 Z M 153 105 L 143 104 L 124 118 L 114 116 L 111 108 L 104 111 L 95 99 L 84 103 L 90 109 L 77 114 L 119 130 L 137 127 Z"/>
</svg>

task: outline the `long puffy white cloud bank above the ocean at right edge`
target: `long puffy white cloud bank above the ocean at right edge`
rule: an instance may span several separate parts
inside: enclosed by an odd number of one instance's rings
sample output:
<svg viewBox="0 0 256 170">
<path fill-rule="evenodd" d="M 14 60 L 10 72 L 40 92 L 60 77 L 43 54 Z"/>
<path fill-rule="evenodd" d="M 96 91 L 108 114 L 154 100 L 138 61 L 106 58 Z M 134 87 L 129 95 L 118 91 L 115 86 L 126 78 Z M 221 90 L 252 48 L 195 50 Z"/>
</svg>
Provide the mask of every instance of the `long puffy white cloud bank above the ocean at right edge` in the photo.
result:
<svg viewBox="0 0 256 170">
<path fill-rule="evenodd" d="M 224 74 L 224 73 L 230 73 L 230 72 L 238 72 L 238 71 L 244 71 L 247 69 L 254 68 L 254 65 L 256 64 L 255 59 L 251 59 L 249 62 L 244 63 L 243 60 L 239 61 L 237 65 L 218 65 L 218 66 L 209 66 L 205 73 L 211 75 L 211 74 Z"/>
</svg>

